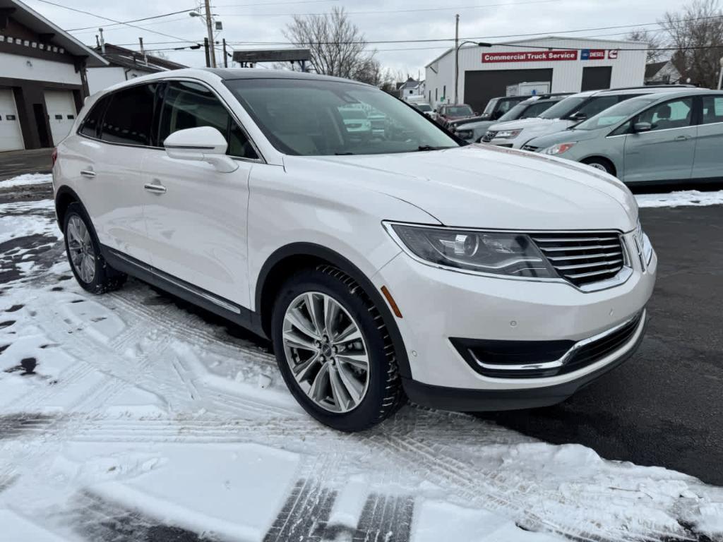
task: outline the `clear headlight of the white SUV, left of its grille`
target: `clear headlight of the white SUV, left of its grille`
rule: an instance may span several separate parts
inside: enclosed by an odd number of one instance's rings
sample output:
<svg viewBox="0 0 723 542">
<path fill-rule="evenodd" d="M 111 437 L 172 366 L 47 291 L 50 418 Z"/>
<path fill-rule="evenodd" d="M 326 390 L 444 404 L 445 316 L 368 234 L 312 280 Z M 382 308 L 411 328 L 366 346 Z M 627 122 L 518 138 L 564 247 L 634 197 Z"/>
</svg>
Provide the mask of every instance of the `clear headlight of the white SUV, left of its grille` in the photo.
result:
<svg viewBox="0 0 723 542">
<path fill-rule="evenodd" d="M 391 227 L 403 247 L 425 262 L 494 275 L 557 277 L 547 259 L 523 233 L 402 224 L 393 224 Z"/>
</svg>

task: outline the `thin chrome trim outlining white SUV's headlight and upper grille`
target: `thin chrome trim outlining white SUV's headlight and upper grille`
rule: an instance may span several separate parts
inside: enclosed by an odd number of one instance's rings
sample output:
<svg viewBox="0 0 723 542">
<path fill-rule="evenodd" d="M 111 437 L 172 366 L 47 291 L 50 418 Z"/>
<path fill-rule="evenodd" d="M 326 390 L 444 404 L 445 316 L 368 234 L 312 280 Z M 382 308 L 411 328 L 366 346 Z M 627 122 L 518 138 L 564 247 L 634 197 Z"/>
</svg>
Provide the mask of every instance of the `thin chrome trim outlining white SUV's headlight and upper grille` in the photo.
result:
<svg viewBox="0 0 723 542">
<path fill-rule="evenodd" d="M 437 228 L 437 229 L 448 229 L 453 231 L 488 231 L 490 233 L 521 233 L 523 235 L 533 235 L 534 233 L 595 233 L 595 232 L 615 232 L 618 236 L 620 236 L 620 248 L 623 249 L 623 255 L 625 256 L 625 261 L 623 262 L 623 268 L 617 272 L 617 275 L 614 277 L 608 278 L 606 280 L 601 280 L 596 283 L 589 283 L 589 284 L 583 284 L 581 286 L 575 285 L 573 283 L 570 283 L 569 280 L 565 280 L 565 278 L 557 277 L 557 278 L 542 278 L 542 277 L 513 277 L 510 275 L 500 275 L 496 273 L 486 273 L 483 271 L 473 271 L 473 270 L 466 270 L 466 269 L 459 269 L 458 267 L 449 267 L 448 265 L 442 265 L 442 264 L 435 264 L 433 262 L 429 262 L 424 258 L 420 258 L 414 252 L 412 252 L 406 244 L 404 244 L 404 241 L 399 238 L 397 233 L 394 231 L 394 228 L 392 228 L 393 225 L 404 225 L 404 226 L 411 226 L 413 228 Z M 406 223 L 406 222 L 398 222 L 395 220 L 382 220 L 382 228 L 388 233 L 388 235 L 392 238 L 392 240 L 399 246 L 399 248 L 403 251 L 404 254 L 406 254 L 408 257 L 411 257 L 411 259 L 414 259 L 414 261 L 419 262 L 421 264 L 426 265 L 427 267 L 433 267 L 435 269 L 445 270 L 445 271 L 451 271 L 455 273 L 460 273 L 461 275 L 472 275 L 474 277 L 484 277 L 484 278 L 495 278 L 495 279 L 501 279 L 501 280 L 518 280 L 518 281 L 524 281 L 528 283 L 553 283 L 553 284 L 564 284 L 567 286 L 570 286 L 570 288 L 575 288 L 577 291 L 582 293 L 591 293 L 591 292 L 598 292 L 602 290 L 608 290 L 609 288 L 615 288 L 617 286 L 623 285 L 630 277 L 633 275 L 633 268 L 630 267 L 630 264 L 628 263 L 630 260 L 628 255 L 628 243 L 625 241 L 625 237 L 629 233 L 623 233 L 620 230 L 613 229 L 594 229 L 594 230 L 510 230 L 510 229 L 495 229 L 495 228 L 454 228 L 452 226 L 447 225 L 437 225 L 437 224 L 413 224 L 413 223 Z M 547 260 L 547 258 L 546 258 Z"/>
</svg>

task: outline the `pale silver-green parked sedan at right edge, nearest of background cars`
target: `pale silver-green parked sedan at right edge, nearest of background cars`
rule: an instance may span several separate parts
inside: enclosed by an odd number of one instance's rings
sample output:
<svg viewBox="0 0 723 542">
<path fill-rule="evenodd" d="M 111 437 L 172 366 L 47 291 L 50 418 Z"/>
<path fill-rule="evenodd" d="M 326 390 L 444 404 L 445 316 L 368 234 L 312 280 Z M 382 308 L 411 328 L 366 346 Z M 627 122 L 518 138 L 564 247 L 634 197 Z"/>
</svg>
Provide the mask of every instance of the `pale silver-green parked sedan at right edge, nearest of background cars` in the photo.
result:
<svg viewBox="0 0 723 542">
<path fill-rule="evenodd" d="M 723 179 L 723 92 L 638 96 L 524 150 L 568 158 L 625 183 Z"/>
</svg>

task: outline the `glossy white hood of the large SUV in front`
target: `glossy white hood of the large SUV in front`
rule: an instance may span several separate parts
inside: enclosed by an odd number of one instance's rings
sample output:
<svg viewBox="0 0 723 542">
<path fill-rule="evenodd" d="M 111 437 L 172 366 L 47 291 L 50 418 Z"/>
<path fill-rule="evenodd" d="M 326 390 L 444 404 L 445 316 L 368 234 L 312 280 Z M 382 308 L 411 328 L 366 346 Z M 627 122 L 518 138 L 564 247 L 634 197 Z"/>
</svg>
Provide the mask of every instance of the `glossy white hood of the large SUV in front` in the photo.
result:
<svg viewBox="0 0 723 542">
<path fill-rule="evenodd" d="M 638 218 L 636 200 L 616 178 L 586 165 L 502 147 L 286 156 L 284 165 L 304 178 L 338 179 L 339 197 L 345 183 L 354 183 L 406 201 L 450 226 L 630 231 Z"/>
</svg>

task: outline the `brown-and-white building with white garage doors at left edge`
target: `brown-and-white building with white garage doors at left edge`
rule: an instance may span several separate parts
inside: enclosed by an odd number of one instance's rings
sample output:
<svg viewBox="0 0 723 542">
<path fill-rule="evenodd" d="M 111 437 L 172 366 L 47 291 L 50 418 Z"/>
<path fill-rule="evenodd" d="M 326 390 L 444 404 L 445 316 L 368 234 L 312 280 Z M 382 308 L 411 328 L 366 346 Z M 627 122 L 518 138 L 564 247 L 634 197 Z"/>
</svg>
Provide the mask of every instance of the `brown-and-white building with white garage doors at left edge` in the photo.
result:
<svg viewBox="0 0 723 542">
<path fill-rule="evenodd" d="M 0 151 L 57 145 L 107 61 L 19 0 L 0 0 Z"/>
</svg>

